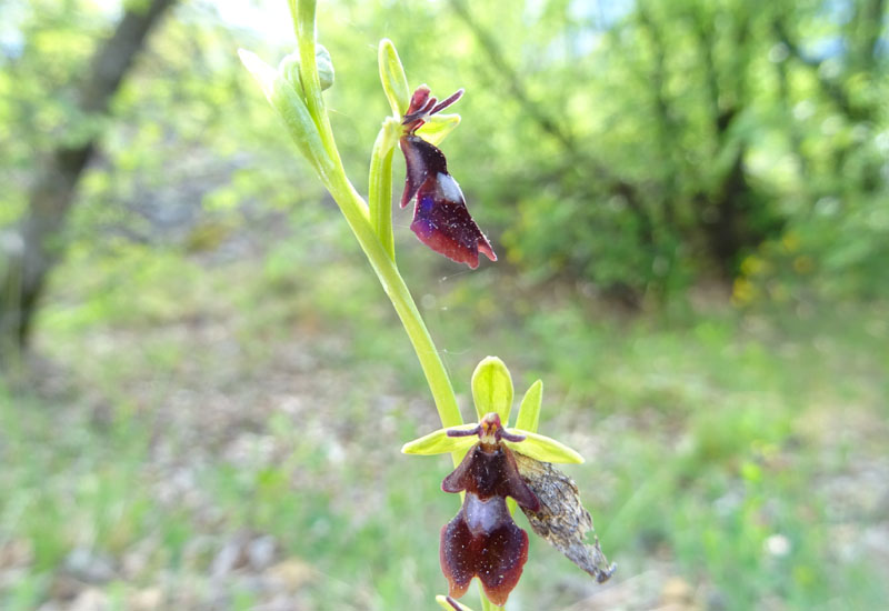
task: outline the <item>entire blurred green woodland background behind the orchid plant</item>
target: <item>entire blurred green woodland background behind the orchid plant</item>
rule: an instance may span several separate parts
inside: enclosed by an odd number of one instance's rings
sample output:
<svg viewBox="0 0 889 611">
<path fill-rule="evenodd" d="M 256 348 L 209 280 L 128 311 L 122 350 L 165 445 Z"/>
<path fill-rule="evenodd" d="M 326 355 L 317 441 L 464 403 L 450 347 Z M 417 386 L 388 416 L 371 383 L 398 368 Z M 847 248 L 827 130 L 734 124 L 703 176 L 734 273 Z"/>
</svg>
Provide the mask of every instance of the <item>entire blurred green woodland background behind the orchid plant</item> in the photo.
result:
<svg viewBox="0 0 889 611">
<path fill-rule="evenodd" d="M 380 38 L 411 86 L 467 90 L 442 149 L 500 261 L 394 213 L 465 414 L 500 355 L 588 459 L 567 470 L 618 573 L 532 537 L 510 609 L 886 608 L 886 23 L 885 0 L 321 2 L 359 190 Z M 283 0 L 0 3 L 1 609 L 444 592 L 450 463 L 399 453 L 438 428 L 429 392 L 237 60 L 292 46 Z"/>
</svg>

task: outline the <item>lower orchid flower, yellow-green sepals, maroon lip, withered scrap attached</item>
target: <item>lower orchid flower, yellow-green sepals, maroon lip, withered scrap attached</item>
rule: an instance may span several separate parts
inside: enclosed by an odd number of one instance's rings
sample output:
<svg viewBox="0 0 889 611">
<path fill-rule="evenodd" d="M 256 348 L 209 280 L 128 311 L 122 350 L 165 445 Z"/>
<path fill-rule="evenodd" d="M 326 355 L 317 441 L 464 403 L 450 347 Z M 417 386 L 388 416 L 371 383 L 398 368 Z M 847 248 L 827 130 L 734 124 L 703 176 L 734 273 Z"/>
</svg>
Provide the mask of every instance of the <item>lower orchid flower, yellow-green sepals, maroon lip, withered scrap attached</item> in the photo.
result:
<svg viewBox="0 0 889 611">
<path fill-rule="evenodd" d="M 440 429 L 401 449 L 408 454 L 462 455 L 441 483 L 444 492 L 466 493 L 460 511 L 440 534 L 441 571 L 449 595 L 462 597 L 478 577 L 488 600 L 506 603 L 528 560 L 528 534 L 511 517 L 516 504 L 536 533 L 599 581 L 608 579 L 613 567 L 608 565 L 598 541 L 582 543 L 592 521 L 580 504 L 577 487 L 550 464 L 579 463 L 583 458 L 535 432 L 542 383 L 528 389 L 516 428 L 510 429 L 503 423 L 512 404 L 512 380 L 500 359 L 489 357 L 476 368 L 472 397 L 478 423 Z"/>
</svg>

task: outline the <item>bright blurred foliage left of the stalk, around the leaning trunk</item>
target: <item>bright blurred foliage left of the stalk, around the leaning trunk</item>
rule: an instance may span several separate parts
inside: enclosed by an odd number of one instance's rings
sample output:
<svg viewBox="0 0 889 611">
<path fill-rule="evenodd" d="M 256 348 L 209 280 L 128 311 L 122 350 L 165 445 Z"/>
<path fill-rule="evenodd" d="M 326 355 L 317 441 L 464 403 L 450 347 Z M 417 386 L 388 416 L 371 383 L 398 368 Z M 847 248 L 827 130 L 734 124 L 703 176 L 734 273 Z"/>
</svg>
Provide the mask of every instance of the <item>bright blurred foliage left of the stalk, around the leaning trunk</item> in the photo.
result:
<svg viewBox="0 0 889 611">
<path fill-rule="evenodd" d="M 11 143 L 0 150 L 2 222 L 23 210 L 29 169 L 58 134 L 77 140 L 97 121 L 106 129 L 80 183 L 69 228 L 74 249 L 89 244 L 108 256 L 154 244 L 231 257 L 243 241 L 232 240 L 236 229 L 268 227 L 294 204 L 319 199 L 320 187 L 293 162 L 277 119 L 237 62 L 234 50 L 257 32 L 224 22 L 210 4 L 183 3 L 164 21 L 107 119 L 78 117 L 68 93 L 118 10 L 52 1 L 0 10 L 18 24 L 4 40 L 0 71 Z"/>
</svg>

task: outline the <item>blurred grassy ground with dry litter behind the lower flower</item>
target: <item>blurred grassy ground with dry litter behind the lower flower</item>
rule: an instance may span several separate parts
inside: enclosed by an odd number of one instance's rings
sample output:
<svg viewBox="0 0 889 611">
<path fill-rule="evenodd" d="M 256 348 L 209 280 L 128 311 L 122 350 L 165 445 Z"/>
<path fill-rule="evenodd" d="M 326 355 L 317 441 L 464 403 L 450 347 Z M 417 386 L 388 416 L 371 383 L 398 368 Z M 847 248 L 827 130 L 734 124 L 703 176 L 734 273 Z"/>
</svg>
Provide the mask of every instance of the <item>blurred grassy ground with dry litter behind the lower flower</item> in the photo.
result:
<svg viewBox="0 0 889 611">
<path fill-rule="evenodd" d="M 0 608 L 89 589 L 113 609 L 433 607 L 457 499 L 447 459 L 398 449 L 434 410 L 370 274 L 328 252 L 74 253 L 40 390 L 0 391 Z M 885 308 L 626 320 L 507 269 L 408 273 L 465 410 L 498 354 L 519 395 L 545 380 L 541 432 L 588 458 L 569 470 L 615 581 L 535 539 L 510 609 L 649 609 L 677 582 L 689 608 L 887 600 Z"/>
</svg>

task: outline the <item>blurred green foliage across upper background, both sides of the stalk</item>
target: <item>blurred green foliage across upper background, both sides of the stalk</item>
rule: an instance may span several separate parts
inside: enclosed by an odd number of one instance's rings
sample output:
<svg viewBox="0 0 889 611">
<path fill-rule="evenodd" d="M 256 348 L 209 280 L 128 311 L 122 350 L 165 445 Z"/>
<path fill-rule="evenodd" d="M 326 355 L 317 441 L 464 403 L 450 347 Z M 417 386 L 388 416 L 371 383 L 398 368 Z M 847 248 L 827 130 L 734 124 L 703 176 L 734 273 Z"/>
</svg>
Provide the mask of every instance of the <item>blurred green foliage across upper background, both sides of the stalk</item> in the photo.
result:
<svg viewBox="0 0 889 611">
<path fill-rule="evenodd" d="M 9 222 L 56 134 L 91 129 L 66 91 L 117 11 L 89 1 L 1 10 Z M 467 89 L 462 128 L 444 148 L 451 170 L 507 260 L 532 278 L 581 280 L 631 302 L 715 276 L 735 282 L 739 302 L 889 289 L 875 273 L 889 243 L 880 0 L 320 10 L 353 181 L 363 188 L 387 113 L 371 49 L 389 37 L 411 87 Z M 248 29 L 237 10 L 187 2 L 157 33 L 116 101 L 77 236 L 212 251 L 243 221 L 318 199 L 236 62 L 234 48 L 262 49 L 261 13 L 249 14 Z M 280 23 L 268 32 L 273 62 L 290 49 Z"/>
</svg>

